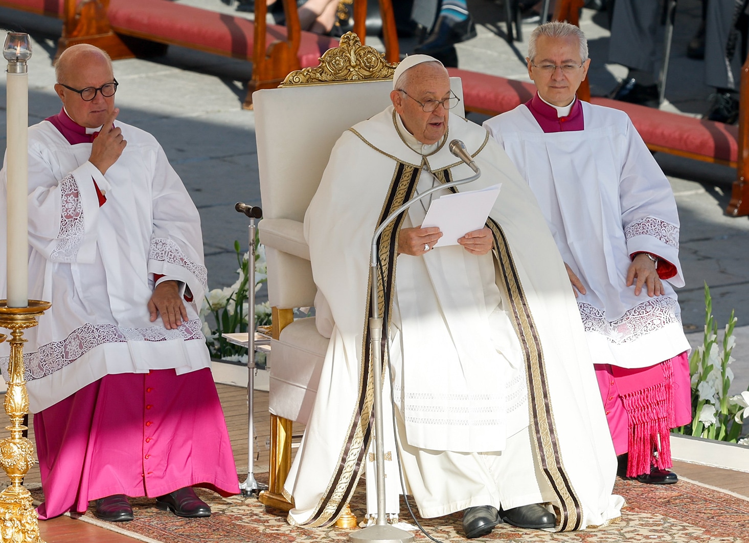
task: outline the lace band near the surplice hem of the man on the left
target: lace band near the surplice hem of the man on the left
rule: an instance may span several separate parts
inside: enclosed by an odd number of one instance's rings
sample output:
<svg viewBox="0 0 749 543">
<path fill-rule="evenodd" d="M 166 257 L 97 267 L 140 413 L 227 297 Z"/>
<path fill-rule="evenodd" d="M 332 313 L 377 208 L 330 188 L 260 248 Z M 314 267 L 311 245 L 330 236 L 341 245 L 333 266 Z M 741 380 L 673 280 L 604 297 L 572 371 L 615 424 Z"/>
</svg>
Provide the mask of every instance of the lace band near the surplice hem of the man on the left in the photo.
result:
<svg viewBox="0 0 749 543">
<path fill-rule="evenodd" d="M 113 324 L 86 323 L 79 329 L 73 330 L 62 341 L 40 345 L 34 353 L 25 353 L 24 379 L 33 381 L 51 375 L 65 366 L 76 362 L 94 347 L 103 344 L 127 343 L 128 341 L 169 341 L 182 339 L 184 341 L 205 341 L 201 332 L 201 320 L 189 320 L 178 329 L 167 330 L 163 326 L 149 326 L 148 328 L 124 328 Z M 9 357 L 0 358 L 0 366 L 7 379 L 7 365 Z"/>
</svg>

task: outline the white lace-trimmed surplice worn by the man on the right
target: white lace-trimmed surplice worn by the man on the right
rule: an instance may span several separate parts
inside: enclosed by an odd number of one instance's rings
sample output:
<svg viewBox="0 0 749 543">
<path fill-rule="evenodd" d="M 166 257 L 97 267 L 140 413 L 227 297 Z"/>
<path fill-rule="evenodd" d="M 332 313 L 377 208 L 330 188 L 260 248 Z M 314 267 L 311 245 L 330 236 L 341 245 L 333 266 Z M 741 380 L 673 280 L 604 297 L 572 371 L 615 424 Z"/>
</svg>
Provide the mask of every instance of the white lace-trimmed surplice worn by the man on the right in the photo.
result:
<svg viewBox="0 0 749 543">
<path fill-rule="evenodd" d="M 626 113 L 581 101 L 584 130 L 544 133 L 524 104 L 485 121 L 536 195 L 562 260 L 586 294 L 577 304 L 595 364 L 646 368 L 688 350 L 675 287 L 679 214 L 666 176 Z M 631 254 L 676 267 L 664 296 L 626 287 Z"/>
</svg>

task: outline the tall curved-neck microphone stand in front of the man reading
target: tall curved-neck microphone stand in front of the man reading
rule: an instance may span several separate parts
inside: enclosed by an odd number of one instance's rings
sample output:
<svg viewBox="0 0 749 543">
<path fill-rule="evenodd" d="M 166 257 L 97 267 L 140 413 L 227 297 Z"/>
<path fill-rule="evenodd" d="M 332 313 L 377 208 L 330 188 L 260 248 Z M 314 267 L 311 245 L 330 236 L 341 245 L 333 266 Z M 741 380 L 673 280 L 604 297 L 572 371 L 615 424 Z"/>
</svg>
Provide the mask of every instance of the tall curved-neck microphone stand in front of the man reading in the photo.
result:
<svg viewBox="0 0 749 543">
<path fill-rule="evenodd" d="M 381 353 L 381 341 L 382 341 L 382 317 L 380 317 L 380 308 L 377 306 L 377 238 L 383 233 L 386 226 L 395 217 L 398 217 L 401 212 L 410 208 L 411 205 L 418 202 L 425 196 L 429 196 L 431 193 L 437 192 L 449 187 L 457 187 L 459 184 L 470 183 L 470 181 L 476 181 L 481 177 L 481 170 L 476 166 L 476 163 L 470 159 L 470 155 L 458 154 L 453 151 L 453 144 L 458 141 L 453 139 L 450 143 L 450 151 L 455 154 L 458 158 L 467 163 L 474 172 L 475 175 L 471 175 L 465 179 L 458 179 L 458 181 L 451 181 L 449 183 L 437 185 L 437 187 L 425 190 L 418 196 L 408 200 L 391 214 L 389 214 L 382 224 L 375 230 L 375 235 L 372 236 L 372 251 L 369 255 L 369 267 L 370 274 L 372 276 L 372 317 L 369 318 L 369 335 L 372 338 L 372 364 L 373 364 L 373 378 L 375 380 L 375 466 L 377 468 L 377 522 L 373 526 L 367 526 L 366 528 L 351 532 L 349 538 L 351 541 L 378 541 L 379 543 L 410 543 L 413 541 L 413 534 L 405 531 L 404 529 L 395 528 L 387 523 L 385 513 L 385 452 L 383 447 L 383 422 L 382 422 L 382 353 Z M 460 144 L 462 145 L 462 143 Z M 463 146 L 463 149 L 465 147 Z M 398 446 L 397 443 L 395 446 Z"/>
</svg>

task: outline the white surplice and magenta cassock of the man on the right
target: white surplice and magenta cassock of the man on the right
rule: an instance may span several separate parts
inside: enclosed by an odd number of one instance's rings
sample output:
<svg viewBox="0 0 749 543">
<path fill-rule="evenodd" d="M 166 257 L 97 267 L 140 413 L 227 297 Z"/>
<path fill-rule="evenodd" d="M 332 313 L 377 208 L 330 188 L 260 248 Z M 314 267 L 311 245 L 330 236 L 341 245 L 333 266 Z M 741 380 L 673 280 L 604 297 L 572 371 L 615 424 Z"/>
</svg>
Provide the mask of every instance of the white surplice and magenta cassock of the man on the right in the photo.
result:
<svg viewBox="0 0 749 543">
<path fill-rule="evenodd" d="M 672 287 L 684 286 L 679 214 L 666 176 L 626 113 L 608 107 L 577 99 L 554 107 L 537 93 L 484 127 L 518 166 L 586 288 L 577 305 L 628 475 L 649 472 L 654 448 L 658 466 L 670 467 L 670 428 L 691 420 L 691 393 Z M 626 286 L 640 252 L 658 256 L 663 296 Z"/>
</svg>

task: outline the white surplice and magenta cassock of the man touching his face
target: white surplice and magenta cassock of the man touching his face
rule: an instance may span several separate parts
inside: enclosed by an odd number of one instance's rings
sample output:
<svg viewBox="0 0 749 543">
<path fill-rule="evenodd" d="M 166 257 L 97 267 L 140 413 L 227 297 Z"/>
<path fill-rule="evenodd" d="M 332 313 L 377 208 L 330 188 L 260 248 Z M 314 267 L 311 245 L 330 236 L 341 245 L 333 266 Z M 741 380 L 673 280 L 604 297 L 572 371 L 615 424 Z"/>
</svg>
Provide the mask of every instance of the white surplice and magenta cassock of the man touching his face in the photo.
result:
<svg viewBox="0 0 749 543">
<path fill-rule="evenodd" d="M 88 161 L 97 130 L 64 110 L 28 129 L 28 295 L 52 302 L 24 347 L 43 518 L 117 493 L 238 492 L 196 307 L 207 281 L 198 211 L 154 136 L 115 124 L 127 147 L 106 175 Z M 3 169 L 3 215 L 5 181 Z M 166 280 L 184 285 L 178 329 L 150 321 Z M 6 379 L 8 356 L 0 344 Z"/>
</svg>

